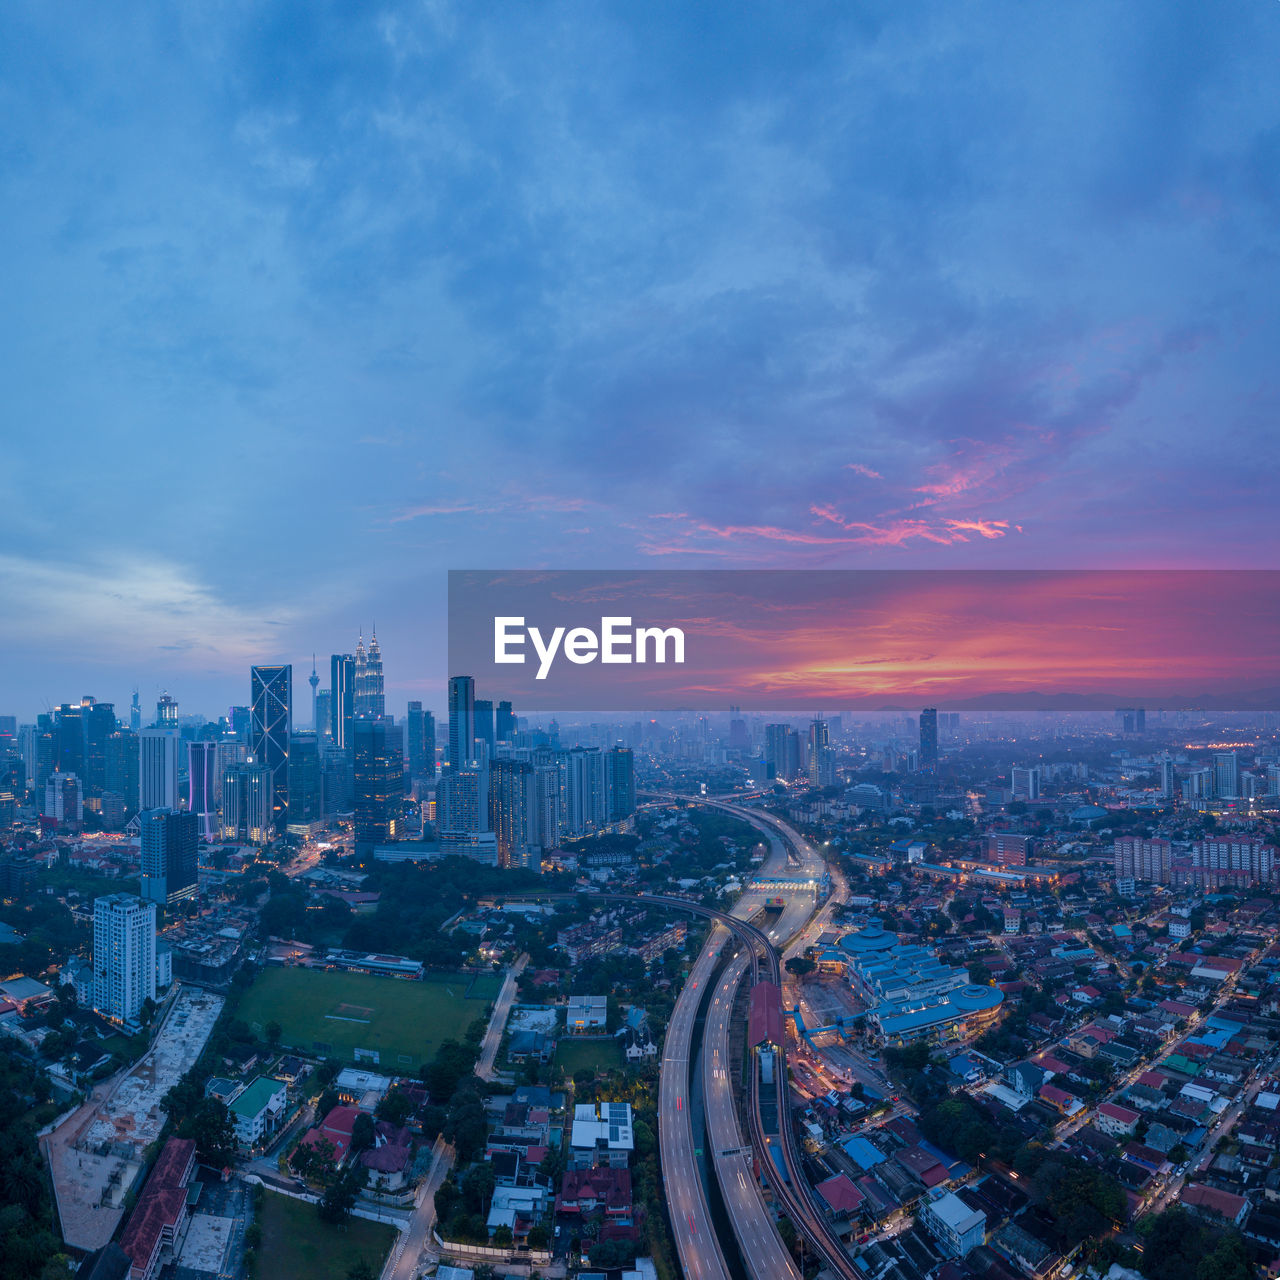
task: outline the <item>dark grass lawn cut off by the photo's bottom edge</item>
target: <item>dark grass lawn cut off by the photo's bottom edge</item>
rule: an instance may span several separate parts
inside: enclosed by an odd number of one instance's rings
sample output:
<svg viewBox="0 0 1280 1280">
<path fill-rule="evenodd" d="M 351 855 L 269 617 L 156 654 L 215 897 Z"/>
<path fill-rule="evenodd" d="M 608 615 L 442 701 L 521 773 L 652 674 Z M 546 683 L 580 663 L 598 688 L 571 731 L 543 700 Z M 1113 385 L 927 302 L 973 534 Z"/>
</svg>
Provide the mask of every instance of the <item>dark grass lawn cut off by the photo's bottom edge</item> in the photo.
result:
<svg viewBox="0 0 1280 1280">
<path fill-rule="evenodd" d="M 315 1204 L 266 1193 L 257 1274 L 266 1280 L 346 1280 L 364 1258 L 374 1275 L 396 1239 L 396 1228 L 349 1217 L 342 1226 L 321 1222 Z"/>
</svg>

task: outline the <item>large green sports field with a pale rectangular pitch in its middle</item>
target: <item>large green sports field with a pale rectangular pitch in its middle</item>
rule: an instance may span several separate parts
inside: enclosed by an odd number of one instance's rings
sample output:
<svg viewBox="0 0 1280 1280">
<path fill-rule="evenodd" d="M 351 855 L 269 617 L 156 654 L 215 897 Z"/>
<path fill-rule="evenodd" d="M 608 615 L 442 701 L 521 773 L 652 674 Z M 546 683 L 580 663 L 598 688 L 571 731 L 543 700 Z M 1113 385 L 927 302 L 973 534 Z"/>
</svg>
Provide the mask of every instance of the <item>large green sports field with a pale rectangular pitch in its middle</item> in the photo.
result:
<svg viewBox="0 0 1280 1280">
<path fill-rule="evenodd" d="M 429 1062 L 443 1041 L 461 1039 L 493 998 L 489 975 L 429 975 L 422 982 L 329 969 L 264 969 L 241 1001 L 239 1016 L 265 1034 L 279 1023 L 289 1048 L 355 1062 L 374 1050 L 378 1066 L 411 1071 Z M 370 1065 L 362 1059 L 362 1065 Z"/>
</svg>

